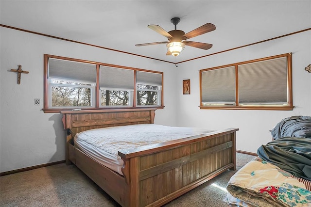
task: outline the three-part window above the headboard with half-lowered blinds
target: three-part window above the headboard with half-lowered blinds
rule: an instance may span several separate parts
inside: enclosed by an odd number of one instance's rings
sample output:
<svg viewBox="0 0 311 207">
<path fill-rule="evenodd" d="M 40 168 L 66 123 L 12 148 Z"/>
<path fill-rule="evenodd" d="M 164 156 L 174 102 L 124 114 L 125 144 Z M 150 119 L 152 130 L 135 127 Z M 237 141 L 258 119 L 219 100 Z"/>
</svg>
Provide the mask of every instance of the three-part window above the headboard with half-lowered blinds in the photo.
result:
<svg viewBox="0 0 311 207">
<path fill-rule="evenodd" d="M 44 111 L 163 108 L 163 73 L 44 55 Z"/>
</svg>

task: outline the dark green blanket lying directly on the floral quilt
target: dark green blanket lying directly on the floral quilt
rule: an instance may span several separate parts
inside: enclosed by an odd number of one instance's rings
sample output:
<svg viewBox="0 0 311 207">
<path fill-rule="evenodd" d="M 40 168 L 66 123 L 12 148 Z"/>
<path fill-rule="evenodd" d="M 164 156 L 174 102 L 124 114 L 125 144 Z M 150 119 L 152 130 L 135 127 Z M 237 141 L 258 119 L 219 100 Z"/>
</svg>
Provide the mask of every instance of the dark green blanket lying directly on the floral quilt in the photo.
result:
<svg viewBox="0 0 311 207">
<path fill-rule="evenodd" d="M 261 145 L 257 154 L 296 177 L 311 180 L 310 138 L 283 137 Z"/>
</svg>

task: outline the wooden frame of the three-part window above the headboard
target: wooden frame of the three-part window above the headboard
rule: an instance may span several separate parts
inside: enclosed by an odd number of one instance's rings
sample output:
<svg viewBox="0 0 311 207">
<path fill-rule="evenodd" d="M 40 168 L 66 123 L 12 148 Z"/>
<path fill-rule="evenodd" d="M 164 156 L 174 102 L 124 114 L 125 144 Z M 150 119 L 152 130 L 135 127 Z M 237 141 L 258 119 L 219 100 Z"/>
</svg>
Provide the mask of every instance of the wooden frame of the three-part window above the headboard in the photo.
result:
<svg viewBox="0 0 311 207">
<path fill-rule="evenodd" d="M 105 63 L 99 63 L 99 62 L 93 62 L 93 61 L 86 61 L 86 60 L 81 60 L 81 59 L 74 59 L 74 58 L 67 58 L 67 57 L 61 57 L 61 56 L 55 56 L 55 55 L 49 55 L 49 54 L 44 54 L 44 100 L 43 100 L 43 111 L 45 113 L 58 113 L 59 111 L 64 111 L 64 110 L 72 110 L 72 109 L 77 109 L 78 107 L 66 107 L 66 108 L 49 108 L 49 98 L 50 98 L 50 89 L 49 89 L 49 80 L 48 80 L 48 67 L 49 67 L 49 58 L 54 58 L 54 59 L 60 59 L 60 60 L 65 60 L 65 61 L 75 61 L 75 62 L 81 62 L 81 63 L 88 63 L 88 64 L 96 64 L 96 86 L 95 86 L 95 107 L 83 107 L 83 110 L 122 110 L 122 109 L 133 109 L 133 108 L 155 108 L 155 109 L 163 109 L 164 108 L 164 99 L 163 99 L 163 72 L 159 71 L 152 71 L 152 70 L 145 70 L 145 69 L 140 69 L 140 68 L 134 68 L 134 67 L 127 67 L 127 66 L 121 66 L 121 65 L 115 65 L 115 64 L 105 64 Z M 100 65 L 103 66 L 108 66 L 108 67 L 115 67 L 115 68 L 120 68 L 120 69 L 129 69 L 134 71 L 134 94 L 133 94 L 133 103 L 131 106 L 109 106 L 109 107 L 103 107 L 100 104 L 100 84 L 99 84 L 99 70 L 100 70 Z M 160 104 L 158 106 L 136 106 L 136 93 L 137 93 L 137 87 L 136 87 L 136 72 L 137 71 L 145 71 L 145 72 L 151 72 L 151 73 L 158 73 L 161 74 L 162 76 L 162 86 L 161 86 L 161 93 L 160 93 Z"/>
</svg>

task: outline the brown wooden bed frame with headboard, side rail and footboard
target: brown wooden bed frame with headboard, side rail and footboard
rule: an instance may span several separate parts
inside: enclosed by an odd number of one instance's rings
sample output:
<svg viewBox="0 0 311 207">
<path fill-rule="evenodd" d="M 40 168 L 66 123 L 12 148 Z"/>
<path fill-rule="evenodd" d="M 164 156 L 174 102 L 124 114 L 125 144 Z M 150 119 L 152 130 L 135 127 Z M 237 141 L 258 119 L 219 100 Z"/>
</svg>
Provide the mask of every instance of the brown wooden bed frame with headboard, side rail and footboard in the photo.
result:
<svg viewBox="0 0 311 207">
<path fill-rule="evenodd" d="M 229 128 L 119 152 L 123 176 L 72 144 L 92 128 L 153 124 L 155 109 L 61 111 L 66 163 L 74 163 L 122 207 L 160 207 L 227 169 L 236 170 L 236 131 Z M 208 195 L 207 195 L 208 196 Z"/>
</svg>

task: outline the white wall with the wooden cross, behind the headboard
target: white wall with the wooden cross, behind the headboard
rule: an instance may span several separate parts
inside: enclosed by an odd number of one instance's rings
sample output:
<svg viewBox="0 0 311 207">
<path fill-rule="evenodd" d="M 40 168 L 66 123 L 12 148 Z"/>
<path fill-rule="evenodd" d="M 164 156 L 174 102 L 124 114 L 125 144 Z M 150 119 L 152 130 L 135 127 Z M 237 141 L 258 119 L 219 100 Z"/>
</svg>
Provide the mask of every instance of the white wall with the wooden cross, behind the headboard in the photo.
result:
<svg viewBox="0 0 311 207">
<path fill-rule="evenodd" d="M 120 52 L 75 44 L 0 27 L 0 172 L 65 159 L 61 115 L 44 113 L 43 54 L 119 64 L 164 72 L 165 108 L 155 111 L 155 123 L 176 125 L 175 66 Z M 21 75 L 17 65 L 29 71 Z M 34 99 L 40 98 L 40 105 Z"/>
</svg>

